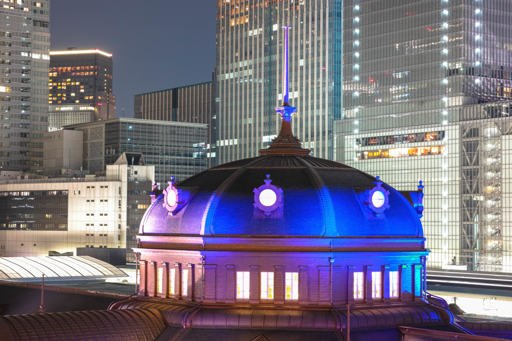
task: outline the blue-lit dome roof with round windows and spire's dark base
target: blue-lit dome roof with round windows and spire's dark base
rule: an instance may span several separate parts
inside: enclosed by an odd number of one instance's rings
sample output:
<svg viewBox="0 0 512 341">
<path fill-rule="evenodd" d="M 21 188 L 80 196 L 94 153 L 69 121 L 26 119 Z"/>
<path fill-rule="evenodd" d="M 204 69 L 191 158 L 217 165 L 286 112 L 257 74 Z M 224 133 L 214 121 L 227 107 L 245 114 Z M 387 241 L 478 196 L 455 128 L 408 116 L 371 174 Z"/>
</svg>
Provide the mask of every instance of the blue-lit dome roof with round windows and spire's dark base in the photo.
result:
<svg viewBox="0 0 512 341">
<path fill-rule="evenodd" d="M 169 182 L 147 210 L 140 234 L 423 237 L 410 198 L 356 168 L 309 156 L 289 125 L 283 120 L 260 157 Z M 279 202 L 276 191 L 282 192 Z"/>
</svg>

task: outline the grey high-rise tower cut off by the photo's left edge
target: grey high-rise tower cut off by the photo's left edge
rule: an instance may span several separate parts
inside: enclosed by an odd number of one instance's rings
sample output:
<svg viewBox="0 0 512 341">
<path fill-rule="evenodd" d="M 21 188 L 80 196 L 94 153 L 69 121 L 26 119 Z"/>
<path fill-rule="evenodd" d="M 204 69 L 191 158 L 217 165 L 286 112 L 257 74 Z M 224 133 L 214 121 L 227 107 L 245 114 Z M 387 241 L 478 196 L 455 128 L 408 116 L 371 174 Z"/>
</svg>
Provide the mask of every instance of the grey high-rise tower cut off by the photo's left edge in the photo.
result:
<svg viewBox="0 0 512 341">
<path fill-rule="evenodd" d="M 48 128 L 50 1 L 0 7 L 0 170 L 42 174 Z"/>
</svg>

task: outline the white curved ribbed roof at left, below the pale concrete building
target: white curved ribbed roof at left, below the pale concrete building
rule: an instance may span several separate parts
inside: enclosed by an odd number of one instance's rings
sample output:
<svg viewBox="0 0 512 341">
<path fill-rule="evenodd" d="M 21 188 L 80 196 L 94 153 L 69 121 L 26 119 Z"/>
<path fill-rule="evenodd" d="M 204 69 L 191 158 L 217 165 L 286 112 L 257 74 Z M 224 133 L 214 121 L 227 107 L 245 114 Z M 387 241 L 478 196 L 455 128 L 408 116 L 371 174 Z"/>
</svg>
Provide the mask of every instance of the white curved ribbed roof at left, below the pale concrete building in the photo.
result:
<svg viewBox="0 0 512 341">
<path fill-rule="evenodd" d="M 0 257 L 0 280 L 111 277 L 126 273 L 90 256 Z"/>
</svg>

